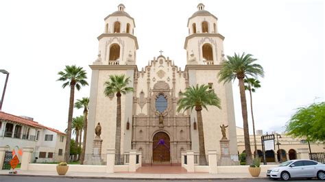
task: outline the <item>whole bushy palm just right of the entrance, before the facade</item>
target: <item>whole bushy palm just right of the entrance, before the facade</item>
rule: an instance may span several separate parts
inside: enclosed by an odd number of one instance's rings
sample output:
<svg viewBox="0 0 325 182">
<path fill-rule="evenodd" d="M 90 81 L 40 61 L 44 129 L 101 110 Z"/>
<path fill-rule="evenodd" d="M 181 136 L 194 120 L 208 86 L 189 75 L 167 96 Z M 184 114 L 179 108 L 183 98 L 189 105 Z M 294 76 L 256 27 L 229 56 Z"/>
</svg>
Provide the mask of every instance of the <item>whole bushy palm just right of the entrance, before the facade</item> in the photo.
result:
<svg viewBox="0 0 325 182">
<path fill-rule="evenodd" d="M 221 109 L 220 99 L 215 94 L 213 90 L 208 90 L 208 86 L 192 86 L 186 88 L 184 93 L 181 93 L 183 96 L 178 100 L 177 112 L 184 109 L 184 112 L 187 109 L 193 110 L 195 108 L 197 114 L 197 131 L 199 132 L 199 151 L 200 151 L 200 161 L 203 164 L 206 164 L 206 152 L 204 146 L 204 129 L 202 121 L 202 109 L 208 110 L 208 105 L 213 105 Z"/>
</svg>

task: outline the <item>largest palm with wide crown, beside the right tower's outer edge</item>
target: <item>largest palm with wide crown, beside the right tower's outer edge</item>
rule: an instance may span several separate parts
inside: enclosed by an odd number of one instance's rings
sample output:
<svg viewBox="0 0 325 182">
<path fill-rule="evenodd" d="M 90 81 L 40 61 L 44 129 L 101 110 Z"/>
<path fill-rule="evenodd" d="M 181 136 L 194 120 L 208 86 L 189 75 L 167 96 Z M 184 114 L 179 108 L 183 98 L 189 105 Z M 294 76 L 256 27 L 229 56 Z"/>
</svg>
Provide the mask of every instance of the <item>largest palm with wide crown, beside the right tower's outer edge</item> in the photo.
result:
<svg viewBox="0 0 325 182">
<path fill-rule="evenodd" d="M 228 60 L 222 62 L 219 72 L 219 82 L 230 82 L 234 79 L 239 80 L 239 92 L 241 94 L 241 114 L 243 116 L 243 130 L 245 140 L 246 164 L 251 162 L 252 151 L 250 150 L 250 134 L 248 131 L 247 103 L 245 96 L 245 86 L 243 79 L 248 75 L 252 77 L 264 77 L 263 67 L 255 64 L 256 59 L 253 55 L 243 53 L 241 56 L 234 53 L 234 56 L 227 56 Z"/>
</svg>

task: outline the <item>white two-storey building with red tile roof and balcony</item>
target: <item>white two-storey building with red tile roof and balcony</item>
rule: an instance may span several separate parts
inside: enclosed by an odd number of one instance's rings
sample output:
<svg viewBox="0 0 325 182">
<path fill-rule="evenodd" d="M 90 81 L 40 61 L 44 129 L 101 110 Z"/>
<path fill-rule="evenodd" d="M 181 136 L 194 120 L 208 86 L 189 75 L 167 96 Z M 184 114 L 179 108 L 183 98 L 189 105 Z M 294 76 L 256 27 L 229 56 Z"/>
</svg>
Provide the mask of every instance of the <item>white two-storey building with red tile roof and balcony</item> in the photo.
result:
<svg viewBox="0 0 325 182">
<path fill-rule="evenodd" d="M 26 116 L 14 116 L 0 112 L 0 146 L 9 150 L 31 146 L 40 157 L 65 153 L 67 135 L 56 129 L 45 127 Z"/>
</svg>

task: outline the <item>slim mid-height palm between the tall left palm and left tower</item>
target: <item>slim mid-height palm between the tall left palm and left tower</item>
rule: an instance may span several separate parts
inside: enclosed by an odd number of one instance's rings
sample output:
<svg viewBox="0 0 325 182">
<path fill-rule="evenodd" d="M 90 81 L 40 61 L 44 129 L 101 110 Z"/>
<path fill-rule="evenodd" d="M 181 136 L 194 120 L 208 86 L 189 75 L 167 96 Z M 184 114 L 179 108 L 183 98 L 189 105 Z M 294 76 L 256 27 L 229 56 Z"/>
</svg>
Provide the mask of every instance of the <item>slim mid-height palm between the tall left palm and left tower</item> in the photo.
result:
<svg viewBox="0 0 325 182">
<path fill-rule="evenodd" d="M 88 104 L 89 98 L 82 97 L 82 99 L 77 99 L 75 103 L 75 107 L 77 109 L 84 108 L 84 141 L 82 142 L 82 154 L 81 154 L 81 164 L 84 164 L 84 154 L 86 153 L 86 137 L 87 137 L 87 127 L 88 127 Z M 81 135 L 80 135 L 81 138 Z M 80 139 L 81 146 L 81 139 Z"/>
</svg>

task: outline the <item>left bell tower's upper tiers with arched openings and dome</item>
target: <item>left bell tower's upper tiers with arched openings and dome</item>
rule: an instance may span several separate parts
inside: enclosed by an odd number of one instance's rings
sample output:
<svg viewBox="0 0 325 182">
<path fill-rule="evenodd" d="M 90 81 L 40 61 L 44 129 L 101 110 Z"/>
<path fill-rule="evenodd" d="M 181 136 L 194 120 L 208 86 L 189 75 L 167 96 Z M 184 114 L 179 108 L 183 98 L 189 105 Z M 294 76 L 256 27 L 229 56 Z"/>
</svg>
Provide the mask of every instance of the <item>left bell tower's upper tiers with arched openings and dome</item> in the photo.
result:
<svg viewBox="0 0 325 182">
<path fill-rule="evenodd" d="M 105 20 L 104 33 L 98 37 L 99 54 L 94 64 L 135 65 L 138 41 L 134 36 L 134 18 L 119 4 Z"/>
</svg>

